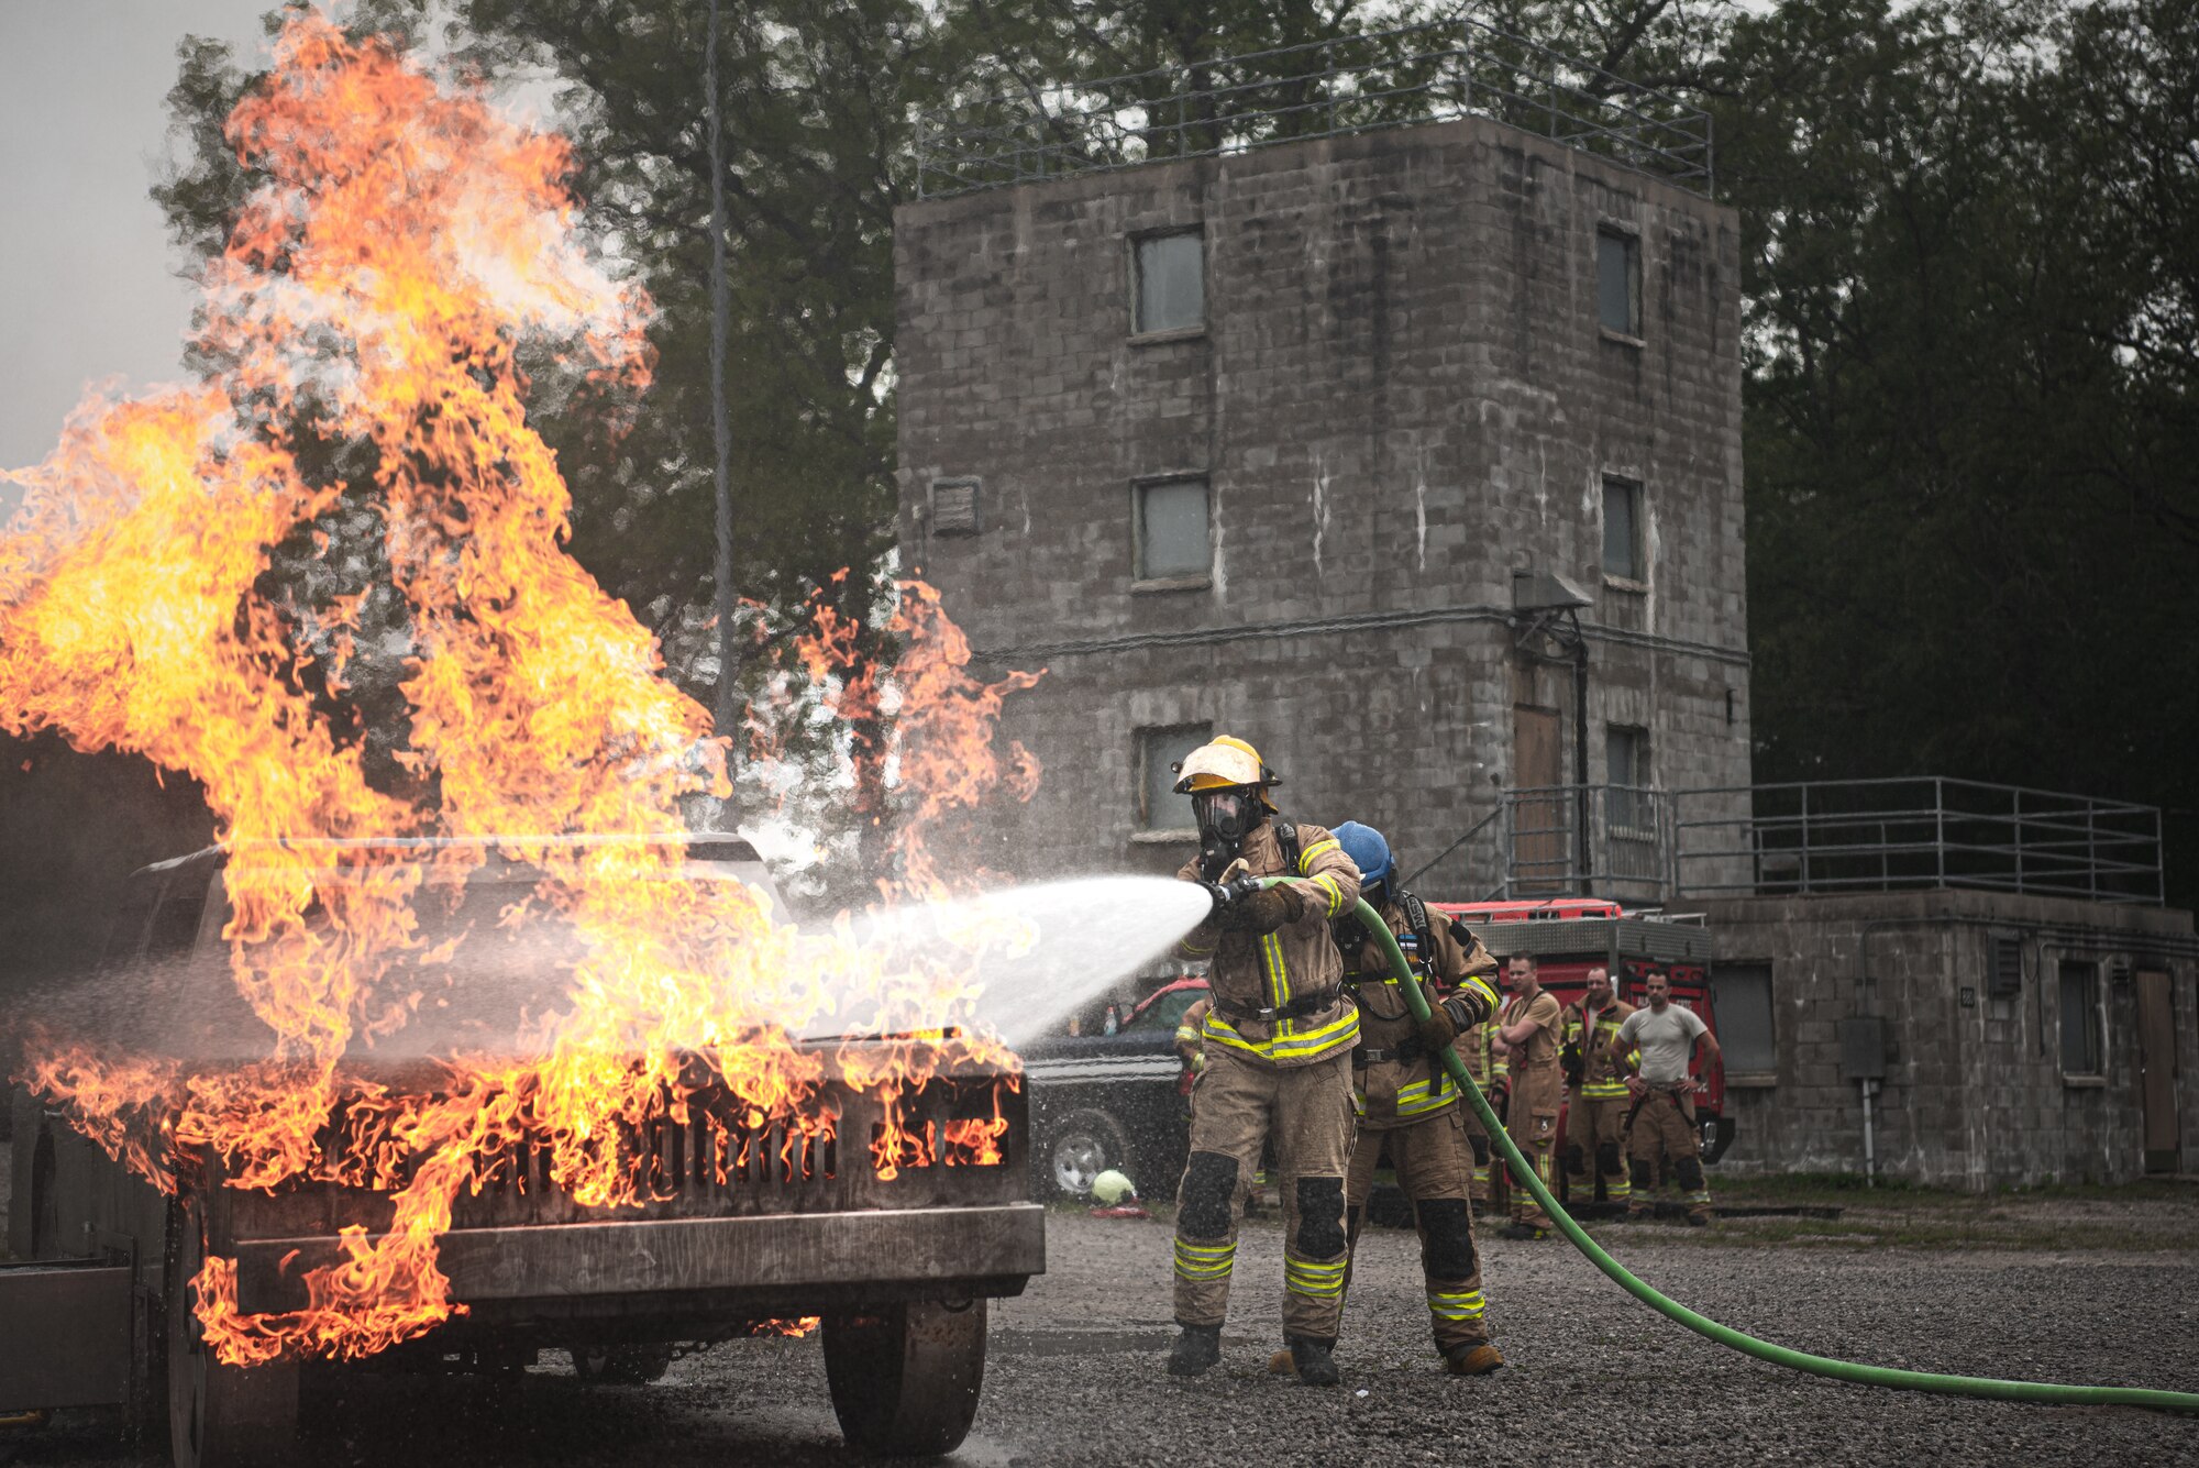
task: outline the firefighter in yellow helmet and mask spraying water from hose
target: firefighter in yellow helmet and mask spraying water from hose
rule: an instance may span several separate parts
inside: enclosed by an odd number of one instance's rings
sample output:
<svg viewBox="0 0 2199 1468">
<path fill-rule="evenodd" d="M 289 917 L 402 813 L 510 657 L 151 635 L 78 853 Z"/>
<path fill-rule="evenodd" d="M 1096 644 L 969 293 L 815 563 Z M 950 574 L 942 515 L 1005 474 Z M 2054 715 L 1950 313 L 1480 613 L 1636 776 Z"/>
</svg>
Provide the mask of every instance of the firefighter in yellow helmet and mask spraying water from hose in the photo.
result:
<svg viewBox="0 0 2199 1468">
<path fill-rule="evenodd" d="M 1176 767 L 1198 818 L 1198 857 L 1176 875 L 1214 910 L 1179 945 L 1207 958 L 1214 1009 L 1192 1105 L 1192 1156 L 1176 1193 L 1174 1376 L 1220 1360 L 1229 1270 L 1245 1189 L 1273 1141 L 1282 1202 L 1282 1332 L 1297 1378 L 1337 1382 L 1344 1312 L 1344 1167 L 1352 1145 L 1359 1011 L 1344 993 L 1330 921 L 1359 901 L 1359 868 L 1322 826 L 1275 815 L 1280 780 L 1240 738 L 1216 738 Z M 1262 877 L 1280 877 L 1262 888 Z"/>
</svg>

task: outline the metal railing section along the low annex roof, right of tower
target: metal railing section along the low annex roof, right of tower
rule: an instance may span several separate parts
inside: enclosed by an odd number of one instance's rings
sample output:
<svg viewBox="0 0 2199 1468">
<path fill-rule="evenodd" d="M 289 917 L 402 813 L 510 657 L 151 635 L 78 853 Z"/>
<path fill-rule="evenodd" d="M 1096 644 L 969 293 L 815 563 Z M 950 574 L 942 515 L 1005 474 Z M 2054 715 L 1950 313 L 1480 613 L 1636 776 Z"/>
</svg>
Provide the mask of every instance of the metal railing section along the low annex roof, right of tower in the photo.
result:
<svg viewBox="0 0 2199 1468">
<path fill-rule="evenodd" d="M 2159 903 L 2162 811 L 1918 776 L 1676 791 L 1689 897 L 1979 888 Z M 1724 804 L 1724 811 L 1713 807 Z"/>
</svg>

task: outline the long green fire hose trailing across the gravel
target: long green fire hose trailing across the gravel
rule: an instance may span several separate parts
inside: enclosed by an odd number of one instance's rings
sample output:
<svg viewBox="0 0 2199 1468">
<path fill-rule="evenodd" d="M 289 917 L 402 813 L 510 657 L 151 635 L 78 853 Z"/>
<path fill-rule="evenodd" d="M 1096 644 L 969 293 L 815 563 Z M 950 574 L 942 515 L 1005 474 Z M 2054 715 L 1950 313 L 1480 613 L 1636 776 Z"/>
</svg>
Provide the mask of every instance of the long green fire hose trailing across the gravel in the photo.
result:
<svg viewBox="0 0 2199 1468">
<path fill-rule="evenodd" d="M 1399 989 L 1405 993 L 1405 1004 L 1412 1007 L 1416 1020 L 1427 1020 L 1427 998 L 1421 993 L 1421 985 L 1414 982 L 1412 967 L 1405 963 L 1403 949 L 1396 945 L 1396 936 L 1390 925 L 1381 919 L 1368 903 L 1357 905 L 1359 923 L 1381 941 L 1383 949 L 1390 954 L 1390 971 L 1399 980 Z M 2192 1391 L 2146 1391 L 2140 1387 L 2065 1387 L 2058 1382 L 2001 1382 L 1990 1376 L 1940 1376 L 1935 1371 L 1902 1371 L 1898 1367 L 1867 1367 L 1856 1360 L 1834 1360 L 1832 1356 L 1812 1356 L 1808 1352 L 1794 1352 L 1783 1345 L 1772 1345 L 1770 1341 L 1757 1341 L 1755 1336 L 1744 1336 L 1731 1325 L 1720 1325 L 1717 1321 L 1695 1314 L 1680 1301 L 1649 1288 L 1636 1279 L 1623 1264 L 1612 1259 L 1603 1248 L 1588 1237 L 1566 1209 L 1559 1206 L 1550 1189 L 1544 1187 L 1541 1178 L 1513 1138 L 1506 1136 L 1504 1123 L 1498 1114 L 1489 1110 L 1489 1101 L 1482 1097 L 1473 1077 L 1467 1075 L 1465 1061 L 1458 1059 L 1458 1050 L 1451 1046 L 1443 1048 L 1443 1066 L 1451 1072 L 1458 1090 L 1465 1094 L 1467 1103 L 1473 1105 L 1473 1114 L 1482 1119 L 1489 1130 L 1489 1138 L 1495 1143 L 1498 1152 L 1511 1165 L 1511 1176 L 1526 1185 L 1557 1226 L 1572 1239 L 1588 1259 L 1610 1275 L 1621 1290 L 1649 1305 L 1662 1316 L 1687 1325 L 1698 1336 L 1717 1341 L 1720 1345 L 1731 1345 L 1733 1349 L 1755 1356 L 1757 1360 L 1768 1360 L 1775 1367 L 1788 1367 L 1792 1371 L 1810 1371 L 1812 1376 L 1830 1376 L 1843 1382 L 1863 1382 L 1867 1387 L 1896 1387 L 1902 1391 L 1937 1391 L 1944 1395 L 1962 1398 L 1999 1398 L 2003 1402 L 2052 1402 L 2056 1406 L 2155 1406 L 2162 1411 L 2186 1411 L 2199 1413 L 2199 1393 Z"/>
</svg>

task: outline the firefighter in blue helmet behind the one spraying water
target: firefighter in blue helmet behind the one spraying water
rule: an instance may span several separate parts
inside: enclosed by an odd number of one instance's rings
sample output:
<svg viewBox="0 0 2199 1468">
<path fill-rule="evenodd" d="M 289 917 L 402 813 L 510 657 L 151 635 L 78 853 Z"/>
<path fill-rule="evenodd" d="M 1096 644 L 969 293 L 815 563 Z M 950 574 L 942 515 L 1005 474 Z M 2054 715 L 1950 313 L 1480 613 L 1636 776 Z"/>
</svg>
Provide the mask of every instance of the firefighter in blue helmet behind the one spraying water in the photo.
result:
<svg viewBox="0 0 2199 1468">
<path fill-rule="evenodd" d="M 1399 949 L 1421 976 L 1429 1007 L 1423 1026 L 1399 993 L 1383 945 L 1355 919 L 1339 921 L 1344 982 L 1359 1004 L 1359 1044 L 1352 1048 L 1359 1136 L 1352 1141 L 1352 1167 L 1344 1185 L 1346 1233 L 1357 1255 L 1374 1167 L 1388 1143 L 1390 1167 L 1396 1169 L 1396 1182 L 1412 1204 L 1412 1226 L 1421 1235 L 1421 1272 L 1427 1277 L 1436 1352 L 1451 1376 L 1487 1376 L 1504 1365 L 1504 1356 L 1489 1345 L 1482 1259 L 1473 1246 L 1467 1105 L 1440 1055 L 1443 1046 L 1495 1013 L 1498 991 L 1489 980 L 1498 965 L 1462 925 L 1432 914 L 1418 897 L 1394 888 L 1396 857 L 1379 831 L 1344 822 L 1337 839 L 1359 868 L 1361 897 L 1390 923 Z"/>
</svg>

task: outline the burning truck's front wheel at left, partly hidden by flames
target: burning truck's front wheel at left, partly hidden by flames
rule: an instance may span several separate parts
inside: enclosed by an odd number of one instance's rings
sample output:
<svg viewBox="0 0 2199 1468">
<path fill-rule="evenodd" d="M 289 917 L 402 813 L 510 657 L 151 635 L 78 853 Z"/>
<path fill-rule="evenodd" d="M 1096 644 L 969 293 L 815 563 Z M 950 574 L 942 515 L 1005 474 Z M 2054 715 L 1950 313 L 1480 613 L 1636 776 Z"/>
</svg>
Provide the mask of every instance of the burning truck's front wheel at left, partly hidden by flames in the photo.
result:
<svg viewBox="0 0 2199 1468">
<path fill-rule="evenodd" d="M 226 1367 L 213 1358 L 191 1312 L 191 1279 L 209 1253 L 229 1246 L 211 1204 L 185 1191 L 169 1213 L 165 1281 L 167 1316 L 167 1450 L 176 1468 L 281 1464 L 297 1446 L 295 1360 Z M 209 1222 L 209 1213 L 216 1215 Z"/>
</svg>

